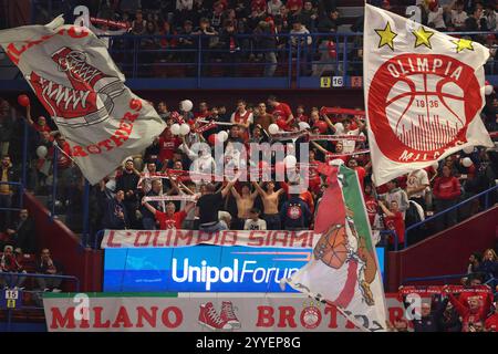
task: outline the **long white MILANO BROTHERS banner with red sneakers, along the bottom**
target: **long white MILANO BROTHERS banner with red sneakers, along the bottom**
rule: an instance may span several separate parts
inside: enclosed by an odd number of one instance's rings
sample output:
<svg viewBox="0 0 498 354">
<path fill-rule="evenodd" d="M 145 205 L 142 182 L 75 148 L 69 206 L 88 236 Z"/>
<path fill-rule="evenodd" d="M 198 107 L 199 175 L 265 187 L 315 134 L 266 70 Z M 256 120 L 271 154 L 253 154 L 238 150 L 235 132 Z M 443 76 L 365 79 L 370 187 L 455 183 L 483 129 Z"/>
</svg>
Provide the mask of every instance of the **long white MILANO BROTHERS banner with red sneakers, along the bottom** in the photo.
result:
<svg viewBox="0 0 498 354">
<path fill-rule="evenodd" d="M 404 317 L 396 296 L 390 296 L 387 303 L 392 322 Z M 359 331 L 335 306 L 302 294 L 181 293 L 170 298 L 160 293 L 45 293 L 43 306 L 50 332 Z"/>
</svg>

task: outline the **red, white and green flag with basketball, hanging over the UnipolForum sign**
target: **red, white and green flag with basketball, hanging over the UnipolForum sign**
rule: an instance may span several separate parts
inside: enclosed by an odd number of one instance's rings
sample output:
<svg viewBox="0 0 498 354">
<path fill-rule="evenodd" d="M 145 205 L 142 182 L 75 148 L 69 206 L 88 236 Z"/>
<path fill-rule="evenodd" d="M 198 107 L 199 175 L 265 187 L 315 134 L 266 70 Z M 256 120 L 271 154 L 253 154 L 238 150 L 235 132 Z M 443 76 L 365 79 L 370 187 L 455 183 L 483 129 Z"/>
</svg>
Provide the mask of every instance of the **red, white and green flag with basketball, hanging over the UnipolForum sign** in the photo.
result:
<svg viewBox="0 0 498 354">
<path fill-rule="evenodd" d="M 287 283 L 336 306 L 362 330 L 385 331 L 386 305 L 375 244 L 356 173 L 326 166 L 329 188 L 320 201 L 313 259 Z"/>
</svg>

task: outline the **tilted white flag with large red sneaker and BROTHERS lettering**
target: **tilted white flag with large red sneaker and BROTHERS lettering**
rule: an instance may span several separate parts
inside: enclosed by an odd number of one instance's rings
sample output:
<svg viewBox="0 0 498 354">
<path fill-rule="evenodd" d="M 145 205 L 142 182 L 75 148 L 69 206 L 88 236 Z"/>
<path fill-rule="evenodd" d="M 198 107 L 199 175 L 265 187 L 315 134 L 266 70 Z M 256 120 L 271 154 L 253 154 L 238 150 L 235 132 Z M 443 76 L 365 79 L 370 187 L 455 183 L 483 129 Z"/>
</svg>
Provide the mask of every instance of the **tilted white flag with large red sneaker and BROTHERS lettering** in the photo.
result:
<svg viewBox="0 0 498 354">
<path fill-rule="evenodd" d="M 91 184 L 142 153 L 166 126 L 154 107 L 125 86 L 105 43 L 86 28 L 64 25 L 60 17 L 46 25 L 0 31 L 0 45 Z"/>
</svg>

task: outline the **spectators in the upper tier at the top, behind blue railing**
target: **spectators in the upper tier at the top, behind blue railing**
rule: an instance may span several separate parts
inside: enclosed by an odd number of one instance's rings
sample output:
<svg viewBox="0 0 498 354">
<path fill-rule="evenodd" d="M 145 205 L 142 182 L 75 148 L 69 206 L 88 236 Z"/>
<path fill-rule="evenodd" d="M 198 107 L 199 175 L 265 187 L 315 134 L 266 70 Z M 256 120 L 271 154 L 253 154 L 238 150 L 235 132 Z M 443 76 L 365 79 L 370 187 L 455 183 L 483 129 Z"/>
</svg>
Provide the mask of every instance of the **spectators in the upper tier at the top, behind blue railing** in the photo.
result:
<svg viewBox="0 0 498 354">
<path fill-rule="evenodd" d="M 396 0 L 369 2 L 402 15 L 406 15 L 409 4 Z M 79 1 L 79 4 L 84 3 Z M 289 50 L 292 58 L 299 56 L 301 75 L 362 73 L 362 37 L 347 38 L 347 46 L 344 46 L 344 40 L 340 38 L 338 42 L 335 33 L 363 32 L 363 17 L 359 13 L 351 24 L 335 0 L 102 0 L 86 4 L 93 17 L 126 24 L 127 30 L 102 23 L 94 25 L 101 34 L 132 34 L 114 39 L 110 44 L 114 60 L 127 74 L 133 72 L 131 53 L 137 49 L 137 69 L 142 76 L 195 75 L 199 48 L 205 76 L 219 76 L 219 72 L 225 76 L 288 74 L 284 63 Z M 423 24 L 439 31 L 494 32 L 497 28 L 494 0 L 414 0 L 412 4 L 421 9 Z M 69 12 L 72 14 L 72 9 Z M 138 35 L 139 41 L 134 43 L 133 38 Z M 199 39 L 199 35 L 203 37 Z M 467 37 L 491 49 L 486 70 L 495 72 L 495 34 Z M 342 72 L 342 65 L 336 65 L 344 51 L 347 52 L 346 72 Z M 240 67 L 237 63 L 248 65 Z M 281 72 L 277 72 L 279 63 L 282 63 Z"/>
</svg>

